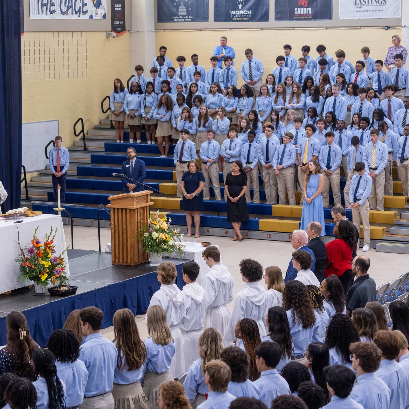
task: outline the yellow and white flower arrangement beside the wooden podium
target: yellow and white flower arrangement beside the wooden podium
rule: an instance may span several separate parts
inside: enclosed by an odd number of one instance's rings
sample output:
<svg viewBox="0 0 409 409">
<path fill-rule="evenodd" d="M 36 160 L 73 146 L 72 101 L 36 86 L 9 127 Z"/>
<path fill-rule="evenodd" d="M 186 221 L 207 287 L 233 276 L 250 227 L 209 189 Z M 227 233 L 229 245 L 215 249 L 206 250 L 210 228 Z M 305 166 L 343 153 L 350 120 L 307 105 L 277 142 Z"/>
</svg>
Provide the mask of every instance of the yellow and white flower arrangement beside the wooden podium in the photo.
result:
<svg viewBox="0 0 409 409">
<path fill-rule="evenodd" d="M 159 217 L 159 211 L 155 216 L 150 216 L 148 224 L 141 229 L 141 238 L 144 242 L 144 251 L 150 254 L 163 256 L 164 253 L 177 253 L 182 258 L 182 245 L 180 244 L 182 235 L 179 229 L 171 229 L 172 219 Z"/>
</svg>

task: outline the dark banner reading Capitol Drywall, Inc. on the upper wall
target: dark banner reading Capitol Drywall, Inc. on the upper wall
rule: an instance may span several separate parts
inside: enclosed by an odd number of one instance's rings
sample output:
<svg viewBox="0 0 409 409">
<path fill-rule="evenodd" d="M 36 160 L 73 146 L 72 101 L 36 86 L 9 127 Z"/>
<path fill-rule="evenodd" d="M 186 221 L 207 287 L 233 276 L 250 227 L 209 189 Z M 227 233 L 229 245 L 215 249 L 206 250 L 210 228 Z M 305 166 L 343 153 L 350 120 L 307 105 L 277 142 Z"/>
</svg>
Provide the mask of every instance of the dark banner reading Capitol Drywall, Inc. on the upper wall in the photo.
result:
<svg viewBox="0 0 409 409">
<path fill-rule="evenodd" d="M 157 0 L 158 23 L 209 21 L 209 0 Z"/>
</svg>

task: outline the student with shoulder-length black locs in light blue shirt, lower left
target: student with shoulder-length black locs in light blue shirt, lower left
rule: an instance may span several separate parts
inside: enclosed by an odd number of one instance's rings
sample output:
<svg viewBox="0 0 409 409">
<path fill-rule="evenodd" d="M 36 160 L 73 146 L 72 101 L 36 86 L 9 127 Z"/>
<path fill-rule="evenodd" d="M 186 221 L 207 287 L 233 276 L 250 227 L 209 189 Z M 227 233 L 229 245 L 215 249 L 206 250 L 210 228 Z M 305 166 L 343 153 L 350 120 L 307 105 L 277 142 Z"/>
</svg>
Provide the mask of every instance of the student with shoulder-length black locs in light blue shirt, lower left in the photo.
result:
<svg viewBox="0 0 409 409">
<path fill-rule="evenodd" d="M 66 407 L 81 405 L 88 371 L 85 364 L 78 359 L 78 339 L 70 330 L 55 330 L 49 337 L 47 348 L 54 355 L 58 378 L 65 383 L 67 391 L 70 391 L 65 399 Z"/>
</svg>

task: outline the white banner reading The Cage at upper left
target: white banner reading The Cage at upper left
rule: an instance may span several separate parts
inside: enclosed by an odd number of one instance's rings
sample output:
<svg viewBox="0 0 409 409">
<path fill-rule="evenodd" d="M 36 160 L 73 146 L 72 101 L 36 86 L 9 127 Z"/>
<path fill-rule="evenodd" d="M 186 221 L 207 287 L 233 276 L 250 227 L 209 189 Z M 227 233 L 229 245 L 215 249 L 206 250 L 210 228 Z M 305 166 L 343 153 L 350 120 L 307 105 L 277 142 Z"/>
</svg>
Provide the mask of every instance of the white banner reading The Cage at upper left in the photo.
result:
<svg viewBox="0 0 409 409">
<path fill-rule="evenodd" d="M 7 0 L 8 1 L 8 0 Z M 30 18 L 106 18 L 107 0 L 30 0 Z M 111 0 L 115 2 L 115 0 Z"/>
</svg>

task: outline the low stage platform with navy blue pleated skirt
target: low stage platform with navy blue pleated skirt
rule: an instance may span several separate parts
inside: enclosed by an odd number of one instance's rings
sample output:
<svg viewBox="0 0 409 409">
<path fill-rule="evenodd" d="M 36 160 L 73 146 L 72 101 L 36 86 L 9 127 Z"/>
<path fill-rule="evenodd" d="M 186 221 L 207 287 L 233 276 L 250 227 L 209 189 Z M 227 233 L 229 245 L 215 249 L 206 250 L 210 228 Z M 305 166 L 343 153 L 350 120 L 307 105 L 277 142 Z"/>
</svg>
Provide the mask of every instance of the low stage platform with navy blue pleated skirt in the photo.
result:
<svg viewBox="0 0 409 409">
<path fill-rule="evenodd" d="M 116 310 L 129 308 L 135 315 L 146 313 L 152 295 L 160 288 L 156 267 L 149 263 L 136 266 L 112 265 L 111 255 L 88 250 L 68 250 L 70 285 L 78 287 L 70 297 L 51 297 L 31 290 L 16 290 L 0 296 L 0 345 L 7 343 L 6 315 L 22 311 L 31 335 L 40 346 L 47 344 L 51 333 L 62 328 L 70 312 L 96 306 L 104 312 L 102 328 L 112 326 Z M 166 258 L 178 270 L 176 284 L 184 285 L 182 265 L 188 260 Z"/>
</svg>

